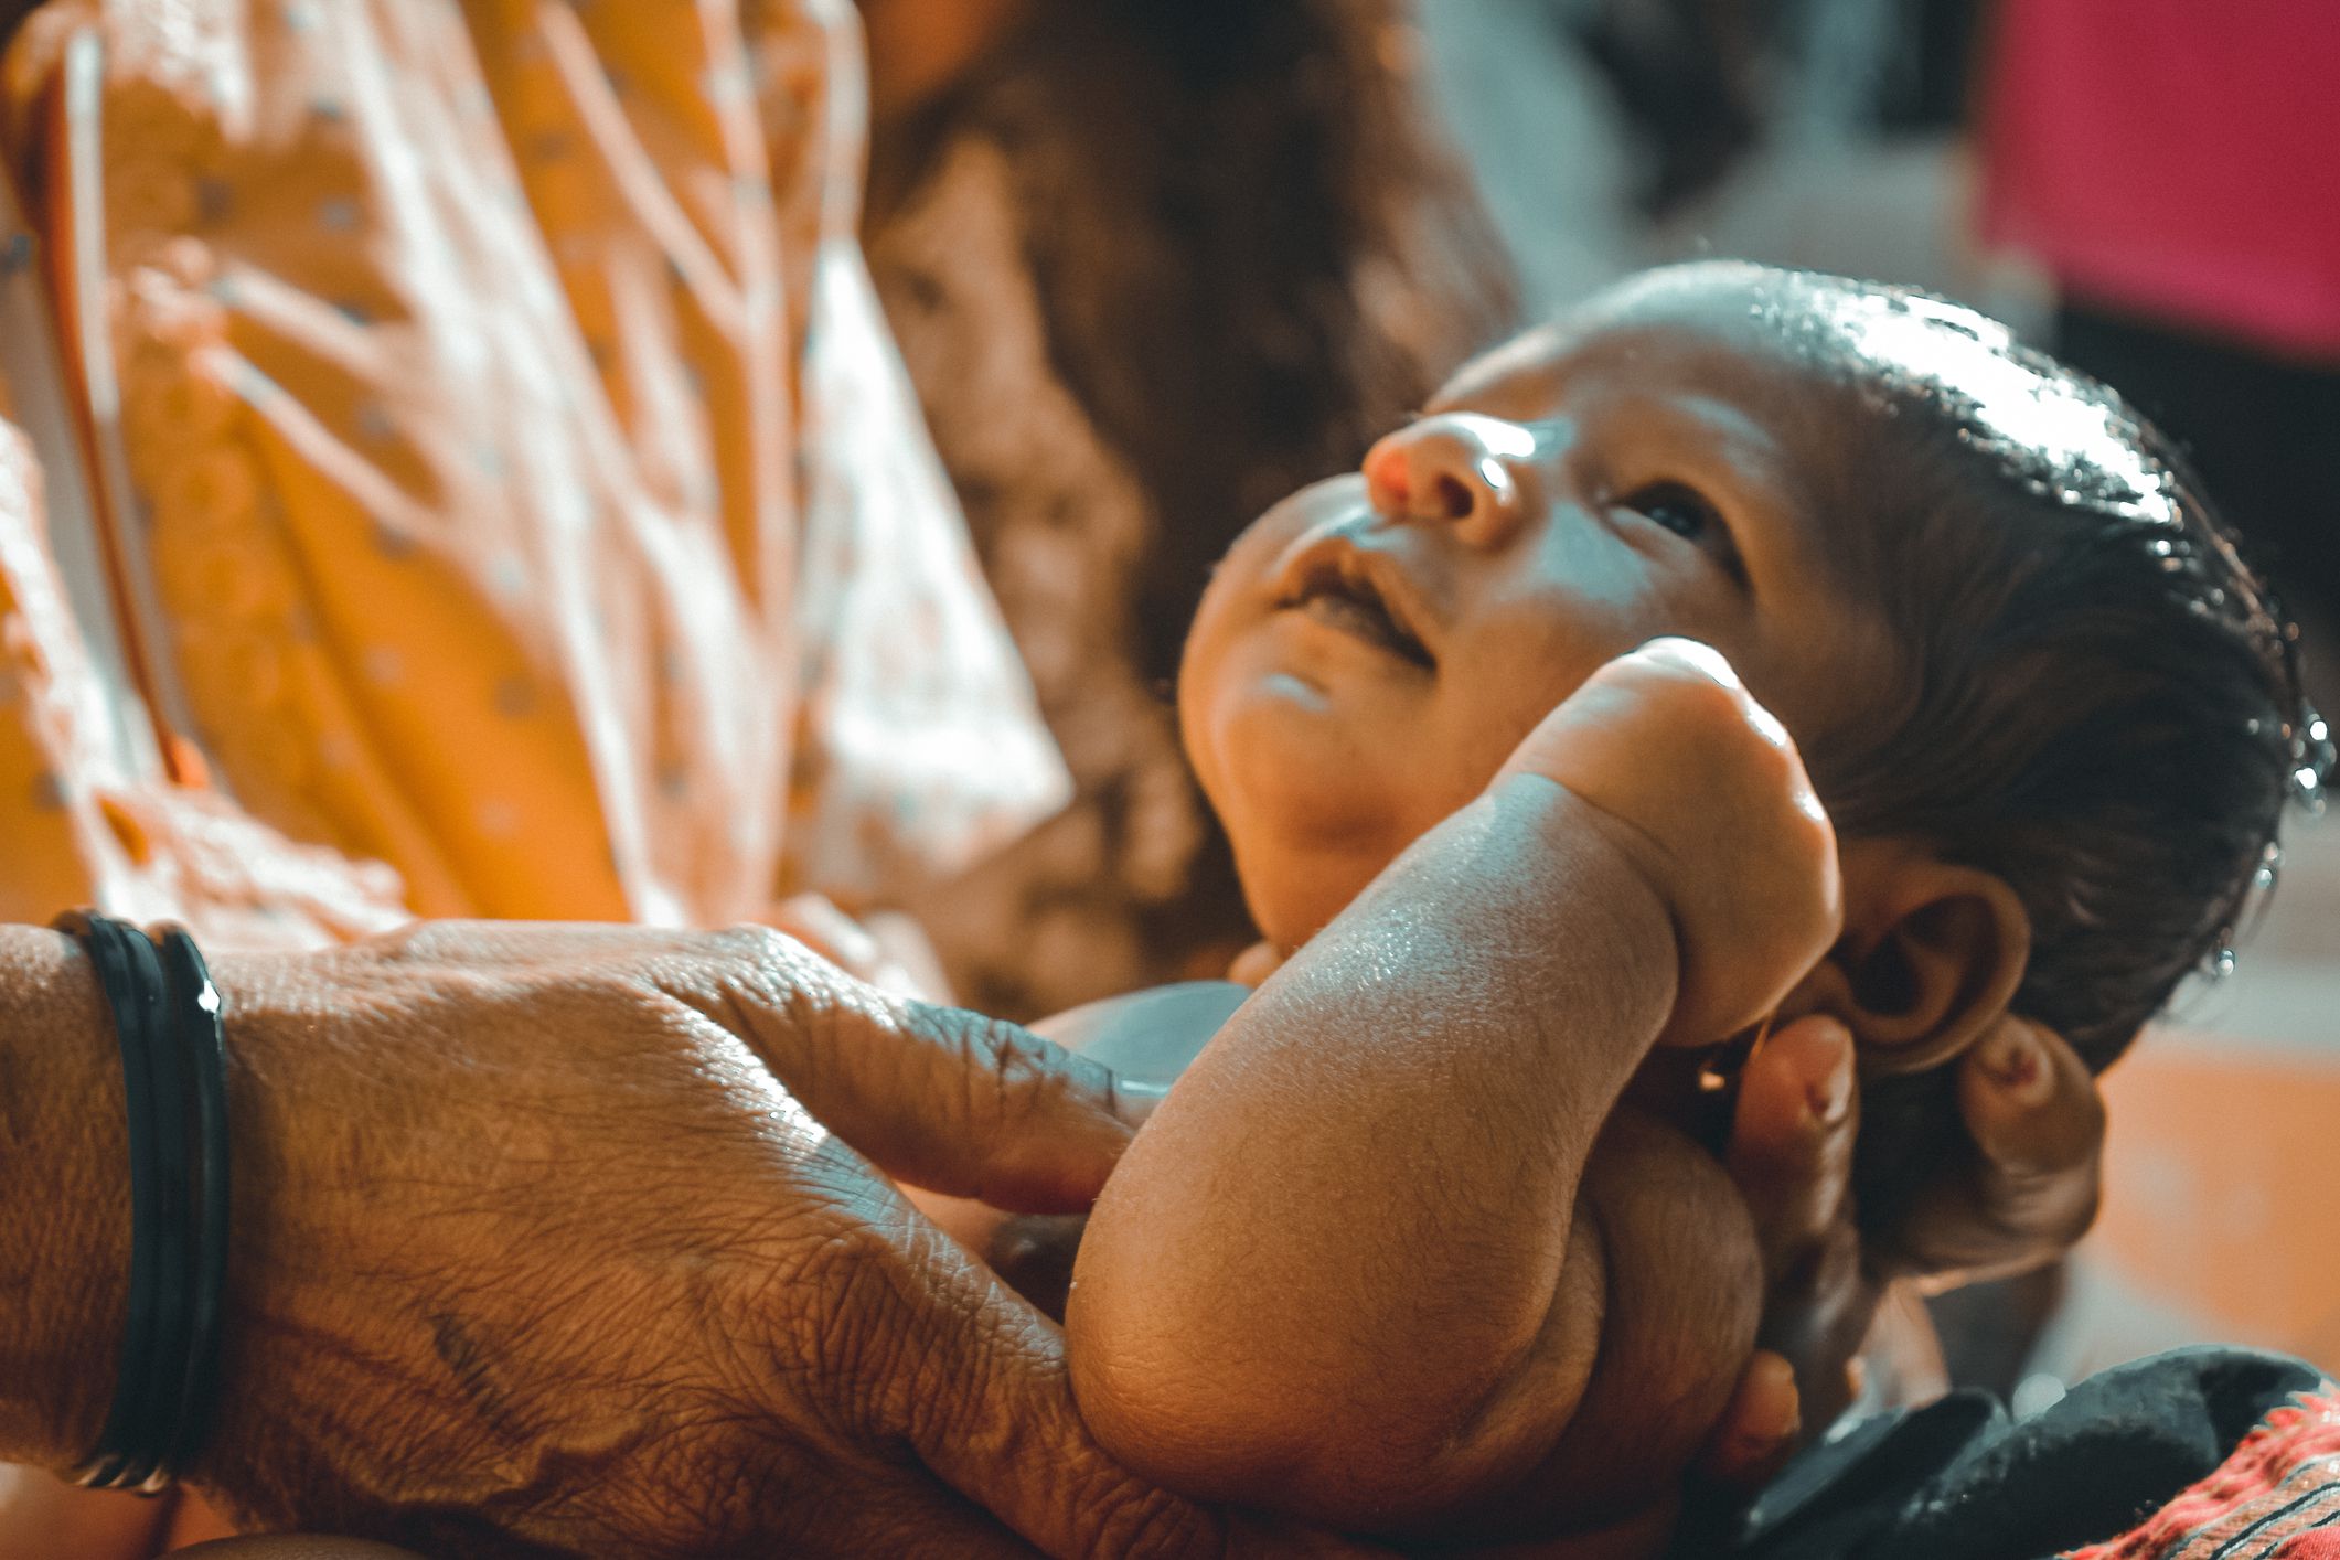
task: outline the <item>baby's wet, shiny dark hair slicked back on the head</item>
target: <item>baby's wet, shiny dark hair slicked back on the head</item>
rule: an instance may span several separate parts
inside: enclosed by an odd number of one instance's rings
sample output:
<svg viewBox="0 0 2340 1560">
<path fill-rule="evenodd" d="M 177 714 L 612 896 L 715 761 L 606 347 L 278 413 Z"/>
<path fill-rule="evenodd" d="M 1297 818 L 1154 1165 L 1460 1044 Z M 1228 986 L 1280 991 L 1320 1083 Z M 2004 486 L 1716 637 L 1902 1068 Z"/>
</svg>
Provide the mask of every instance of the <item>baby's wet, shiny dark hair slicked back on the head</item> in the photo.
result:
<svg viewBox="0 0 2340 1560">
<path fill-rule="evenodd" d="M 1774 274 L 1755 304 L 1842 395 L 1830 526 L 1900 648 L 1891 702 L 1806 744 L 1846 837 L 2005 879 L 2031 917 L 2015 1010 L 2108 1067 L 2232 959 L 2326 725 L 2298 629 L 2179 451 L 2106 386 L 1942 299 Z M 1835 395 L 1830 395 L 1835 400 Z M 1874 1078 L 1856 1190 L 1891 1223 L 1959 1130 L 1949 1069 Z"/>
</svg>

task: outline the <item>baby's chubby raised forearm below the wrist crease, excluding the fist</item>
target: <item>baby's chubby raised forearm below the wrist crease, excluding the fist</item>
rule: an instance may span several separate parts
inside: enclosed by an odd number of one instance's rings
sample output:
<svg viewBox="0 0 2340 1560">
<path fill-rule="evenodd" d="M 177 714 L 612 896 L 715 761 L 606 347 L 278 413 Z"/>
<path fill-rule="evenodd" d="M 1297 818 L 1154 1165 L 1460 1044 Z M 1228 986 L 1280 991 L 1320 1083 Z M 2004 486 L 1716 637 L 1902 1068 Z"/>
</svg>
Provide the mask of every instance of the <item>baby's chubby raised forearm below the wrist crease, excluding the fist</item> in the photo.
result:
<svg viewBox="0 0 2340 1560">
<path fill-rule="evenodd" d="M 1282 1403 L 1306 1441 L 1327 1392 L 1430 1429 L 1423 1410 L 1500 1382 L 1554 1307 L 1594 1139 L 1673 1001 L 1673 924 L 1615 828 L 1551 781 L 1507 781 L 1228 1022 L 1090 1221 L 1083 1410 L 1112 1396 L 1203 1429 L 1224 1401 L 1210 1434 L 1273 1441 Z"/>
</svg>

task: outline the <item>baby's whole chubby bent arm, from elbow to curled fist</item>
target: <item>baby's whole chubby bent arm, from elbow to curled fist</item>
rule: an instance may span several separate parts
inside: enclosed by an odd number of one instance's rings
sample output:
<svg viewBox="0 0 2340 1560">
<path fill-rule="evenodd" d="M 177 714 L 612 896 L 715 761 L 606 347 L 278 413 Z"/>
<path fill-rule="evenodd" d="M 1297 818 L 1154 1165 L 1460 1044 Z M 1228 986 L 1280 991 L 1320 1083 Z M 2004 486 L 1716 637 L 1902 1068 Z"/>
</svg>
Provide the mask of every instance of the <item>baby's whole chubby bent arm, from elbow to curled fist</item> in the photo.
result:
<svg viewBox="0 0 2340 1560">
<path fill-rule="evenodd" d="M 1753 1272 L 1668 1251 L 1666 1200 L 1633 1190 L 1713 1195 L 1685 1144 L 1603 1130 L 1661 1031 L 1727 1034 L 1825 950 L 1811 830 L 1832 849 L 1736 683 L 1619 667 L 1294 957 L 1114 1172 L 1067 1333 L 1081 1410 L 1133 1469 L 1346 1527 L 1488 1502 L 1535 1527 L 1575 1509 L 1551 1476 L 1601 1450 L 1580 1410 L 1624 1403 L 1603 1382 L 1626 1354 L 1650 1354 L 1643 1403 L 1713 1396 L 1652 1448 L 1664 1476 L 1720 1413 Z M 1825 914 L 1748 936 L 1764 877 Z"/>
</svg>

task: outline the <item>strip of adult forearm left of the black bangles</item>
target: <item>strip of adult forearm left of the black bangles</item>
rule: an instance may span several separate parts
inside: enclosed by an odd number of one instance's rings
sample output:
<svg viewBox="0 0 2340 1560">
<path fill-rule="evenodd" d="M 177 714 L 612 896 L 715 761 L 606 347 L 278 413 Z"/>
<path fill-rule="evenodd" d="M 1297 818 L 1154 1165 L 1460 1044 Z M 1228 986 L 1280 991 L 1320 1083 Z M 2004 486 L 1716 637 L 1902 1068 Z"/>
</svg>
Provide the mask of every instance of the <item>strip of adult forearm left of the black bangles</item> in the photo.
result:
<svg viewBox="0 0 2340 1560">
<path fill-rule="evenodd" d="M 0 1457 L 96 1441 L 129 1286 L 122 1057 L 70 938 L 0 926 Z"/>
</svg>

